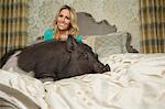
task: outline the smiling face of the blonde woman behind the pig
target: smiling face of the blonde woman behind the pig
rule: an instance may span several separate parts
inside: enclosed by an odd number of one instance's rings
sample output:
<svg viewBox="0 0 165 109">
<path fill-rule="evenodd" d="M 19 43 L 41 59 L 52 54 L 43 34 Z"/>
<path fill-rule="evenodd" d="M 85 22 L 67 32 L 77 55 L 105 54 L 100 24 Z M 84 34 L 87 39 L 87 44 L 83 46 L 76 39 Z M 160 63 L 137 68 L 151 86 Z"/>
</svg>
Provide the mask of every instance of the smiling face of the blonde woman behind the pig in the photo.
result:
<svg viewBox="0 0 165 109">
<path fill-rule="evenodd" d="M 63 9 L 57 18 L 57 28 L 59 31 L 68 31 L 70 26 L 70 12 L 68 9 Z"/>
</svg>

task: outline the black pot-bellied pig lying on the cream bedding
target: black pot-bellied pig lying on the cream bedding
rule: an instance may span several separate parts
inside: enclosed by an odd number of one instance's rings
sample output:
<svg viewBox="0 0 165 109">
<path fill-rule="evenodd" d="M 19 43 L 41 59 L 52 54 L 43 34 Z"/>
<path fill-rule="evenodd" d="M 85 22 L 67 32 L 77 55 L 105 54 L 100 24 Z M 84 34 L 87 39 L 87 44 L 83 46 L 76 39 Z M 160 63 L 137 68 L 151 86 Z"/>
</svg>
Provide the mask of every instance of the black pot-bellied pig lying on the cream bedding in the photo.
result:
<svg viewBox="0 0 165 109">
<path fill-rule="evenodd" d="M 36 78 L 54 80 L 109 72 L 109 65 L 100 63 L 88 45 L 76 42 L 69 35 L 67 41 L 50 40 L 22 50 L 18 65 L 25 72 L 34 72 Z"/>
</svg>

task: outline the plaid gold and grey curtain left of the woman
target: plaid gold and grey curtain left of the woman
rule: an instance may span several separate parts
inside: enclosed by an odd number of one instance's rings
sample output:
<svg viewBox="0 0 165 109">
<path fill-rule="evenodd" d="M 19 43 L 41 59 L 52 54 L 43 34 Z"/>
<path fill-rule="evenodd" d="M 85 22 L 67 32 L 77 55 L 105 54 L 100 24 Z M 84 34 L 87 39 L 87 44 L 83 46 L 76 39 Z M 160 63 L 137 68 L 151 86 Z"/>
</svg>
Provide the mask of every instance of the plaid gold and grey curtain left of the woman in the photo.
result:
<svg viewBox="0 0 165 109">
<path fill-rule="evenodd" d="M 28 0 L 0 0 L 0 58 L 26 45 L 26 17 Z"/>
</svg>

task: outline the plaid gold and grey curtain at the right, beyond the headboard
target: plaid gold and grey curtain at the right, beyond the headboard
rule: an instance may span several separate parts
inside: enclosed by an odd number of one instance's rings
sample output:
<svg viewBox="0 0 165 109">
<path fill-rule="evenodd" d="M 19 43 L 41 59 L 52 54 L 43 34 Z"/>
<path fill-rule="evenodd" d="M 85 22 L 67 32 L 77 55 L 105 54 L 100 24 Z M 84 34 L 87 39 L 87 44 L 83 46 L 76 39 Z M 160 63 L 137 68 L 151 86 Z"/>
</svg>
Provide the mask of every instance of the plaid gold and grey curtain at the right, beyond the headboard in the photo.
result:
<svg viewBox="0 0 165 109">
<path fill-rule="evenodd" d="M 165 52 L 165 0 L 140 0 L 141 52 Z"/>
</svg>

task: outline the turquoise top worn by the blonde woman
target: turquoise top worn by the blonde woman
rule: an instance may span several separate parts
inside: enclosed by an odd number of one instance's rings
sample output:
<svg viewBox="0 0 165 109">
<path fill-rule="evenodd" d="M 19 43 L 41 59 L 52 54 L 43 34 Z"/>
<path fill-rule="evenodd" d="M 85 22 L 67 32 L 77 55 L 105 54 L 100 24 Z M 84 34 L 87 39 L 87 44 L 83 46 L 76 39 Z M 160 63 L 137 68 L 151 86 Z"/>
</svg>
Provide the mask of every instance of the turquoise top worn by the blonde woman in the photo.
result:
<svg viewBox="0 0 165 109">
<path fill-rule="evenodd" d="M 44 31 L 44 41 L 48 41 L 53 39 L 53 29 L 48 28 Z M 77 42 L 81 42 L 82 36 L 81 35 L 76 35 L 75 36 Z"/>
</svg>

